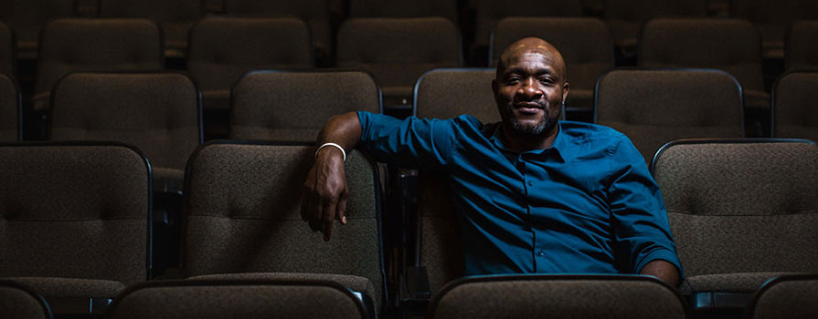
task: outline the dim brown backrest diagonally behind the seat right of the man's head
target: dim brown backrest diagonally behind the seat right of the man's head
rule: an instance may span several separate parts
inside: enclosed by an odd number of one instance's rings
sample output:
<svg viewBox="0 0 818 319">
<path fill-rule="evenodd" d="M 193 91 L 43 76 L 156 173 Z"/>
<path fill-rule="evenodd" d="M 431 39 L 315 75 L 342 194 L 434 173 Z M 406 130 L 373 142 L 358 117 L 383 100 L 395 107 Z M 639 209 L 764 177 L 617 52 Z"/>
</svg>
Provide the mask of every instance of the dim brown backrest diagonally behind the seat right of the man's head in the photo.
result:
<svg viewBox="0 0 818 319">
<path fill-rule="evenodd" d="M 744 89 L 763 91 L 760 41 L 745 20 L 657 18 L 642 29 L 639 66 L 717 68 Z"/>
</svg>

